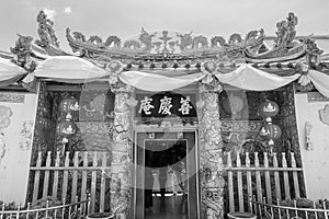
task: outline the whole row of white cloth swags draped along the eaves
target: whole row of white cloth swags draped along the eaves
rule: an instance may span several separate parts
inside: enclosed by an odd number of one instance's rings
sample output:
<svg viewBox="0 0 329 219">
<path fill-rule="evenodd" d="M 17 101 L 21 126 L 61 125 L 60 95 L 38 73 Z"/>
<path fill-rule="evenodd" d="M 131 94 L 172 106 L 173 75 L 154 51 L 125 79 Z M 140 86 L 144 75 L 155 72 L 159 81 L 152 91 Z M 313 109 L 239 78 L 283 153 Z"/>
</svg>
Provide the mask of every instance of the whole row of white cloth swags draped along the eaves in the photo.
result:
<svg viewBox="0 0 329 219">
<path fill-rule="evenodd" d="M 118 73 L 118 79 L 128 85 L 144 91 L 159 92 L 179 89 L 202 80 L 207 72 L 180 71 L 169 74 L 158 72 L 123 71 Z M 27 72 L 25 69 L 11 62 L 9 59 L 0 58 L 0 87 L 5 87 L 22 79 Z M 107 79 L 111 74 L 103 68 L 92 62 L 73 56 L 55 56 L 41 61 L 33 72 L 36 78 L 50 79 L 67 83 L 83 83 L 99 79 Z M 284 87 L 300 77 L 299 73 L 281 77 L 269 73 L 250 65 L 242 64 L 231 72 L 217 72 L 215 77 L 225 84 L 251 91 L 269 91 Z M 302 82 L 310 80 L 316 89 L 325 96 L 329 97 L 329 76 L 316 70 L 309 70 L 299 79 Z"/>
</svg>

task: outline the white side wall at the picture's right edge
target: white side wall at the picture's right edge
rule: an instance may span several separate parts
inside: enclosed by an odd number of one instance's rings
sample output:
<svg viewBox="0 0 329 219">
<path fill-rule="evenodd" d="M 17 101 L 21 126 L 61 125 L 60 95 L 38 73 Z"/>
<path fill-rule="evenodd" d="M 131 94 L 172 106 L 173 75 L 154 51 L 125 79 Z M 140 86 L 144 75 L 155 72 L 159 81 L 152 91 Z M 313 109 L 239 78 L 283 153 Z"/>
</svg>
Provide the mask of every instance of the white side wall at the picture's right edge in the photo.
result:
<svg viewBox="0 0 329 219">
<path fill-rule="evenodd" d="M 295 94 L 297 128 L 302 161 L 306 181 L 306 194 L 310 199 L 329 198 L 329 125 L 321 123 L 319 110 L 329 102 L 307 101 L 307 94 Z M 306 150 L 305 123 L 313 126 L 310 142 L 313 150 Z"/>
</svg>

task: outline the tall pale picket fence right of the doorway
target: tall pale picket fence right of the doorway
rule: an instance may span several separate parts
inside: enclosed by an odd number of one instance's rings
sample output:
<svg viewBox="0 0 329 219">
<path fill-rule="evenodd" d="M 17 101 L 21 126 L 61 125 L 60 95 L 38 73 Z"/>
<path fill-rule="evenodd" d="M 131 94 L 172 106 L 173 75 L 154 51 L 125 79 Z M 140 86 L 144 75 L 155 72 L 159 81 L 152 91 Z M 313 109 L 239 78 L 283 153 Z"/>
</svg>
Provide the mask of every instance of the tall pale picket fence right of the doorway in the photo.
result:
<svg viewBox="0 0 329 219">
<path fill-rule="evenodd" d="M 246 211 L 250 195 L 258 201 L 265 197 L 269 204 L 304 196 L 303 169 L 297 166 L 293 152 L 271 155 L 228 152 L 224 160 L 229 211 Z"/>
</svg>

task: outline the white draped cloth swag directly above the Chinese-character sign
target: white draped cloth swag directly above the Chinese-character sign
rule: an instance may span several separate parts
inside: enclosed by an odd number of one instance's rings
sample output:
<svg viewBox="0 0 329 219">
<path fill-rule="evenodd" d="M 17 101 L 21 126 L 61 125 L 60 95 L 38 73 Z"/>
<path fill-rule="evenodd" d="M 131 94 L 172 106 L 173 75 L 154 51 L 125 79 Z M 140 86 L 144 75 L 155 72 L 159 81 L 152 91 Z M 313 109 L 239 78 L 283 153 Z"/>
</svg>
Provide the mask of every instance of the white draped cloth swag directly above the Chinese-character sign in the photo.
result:
<svg viewBox="0 0 329 219">
<path fill-rule="evenodd" d="M 125 84 L 135 87 L 144 91 L 171 91 L 179 89 L 196 81 L 202 80 L 205 73 L 193 73 L 170 78 L 160 74 L 146 73 L 140 71 L 124 71 L 118 74 L 118 78 Z"/>
</svg>

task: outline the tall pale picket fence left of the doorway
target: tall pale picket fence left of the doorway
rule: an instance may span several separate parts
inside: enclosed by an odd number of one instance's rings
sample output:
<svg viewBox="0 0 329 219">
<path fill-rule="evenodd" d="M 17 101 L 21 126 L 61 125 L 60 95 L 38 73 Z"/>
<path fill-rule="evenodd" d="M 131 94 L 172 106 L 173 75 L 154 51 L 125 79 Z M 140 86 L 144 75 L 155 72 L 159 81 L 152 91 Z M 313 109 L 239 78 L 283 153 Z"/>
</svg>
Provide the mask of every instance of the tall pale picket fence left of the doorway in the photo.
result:
<svg viewBox="0 0 329 219">
<path fill-rule="evenodd" d="M 43 159 L 38 152 L 35 166 L 30 168 L 32 200 L 52 196 L 76 203 L 76 196 L 87 200 L 90 194 L 90 211 L 104 212 L 110 208 L 111 158 L 107 152 L 76 151 L 73 154 L 48 151 Z"/>
</svg>

